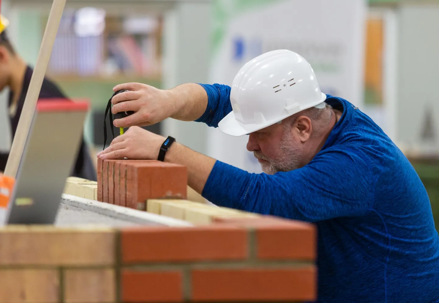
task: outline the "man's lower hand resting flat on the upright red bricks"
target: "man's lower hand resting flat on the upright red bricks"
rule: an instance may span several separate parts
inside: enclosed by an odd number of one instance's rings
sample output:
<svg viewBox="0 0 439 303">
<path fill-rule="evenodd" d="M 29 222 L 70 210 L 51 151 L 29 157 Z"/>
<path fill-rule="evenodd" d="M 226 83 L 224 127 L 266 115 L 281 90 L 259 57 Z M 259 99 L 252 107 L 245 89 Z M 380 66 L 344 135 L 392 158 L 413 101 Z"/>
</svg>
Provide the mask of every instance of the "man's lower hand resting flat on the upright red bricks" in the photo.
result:
<svg viewBox="0 0 439 303">
<path fill-rule="evenodd" d="M 144 159 L 157 160 L 165 137 L 151 133 L 138 126 L 130 127 L 126 133 L 115 137 L 110 146 L 97 154 L 99 159 Z"/>
</svg>

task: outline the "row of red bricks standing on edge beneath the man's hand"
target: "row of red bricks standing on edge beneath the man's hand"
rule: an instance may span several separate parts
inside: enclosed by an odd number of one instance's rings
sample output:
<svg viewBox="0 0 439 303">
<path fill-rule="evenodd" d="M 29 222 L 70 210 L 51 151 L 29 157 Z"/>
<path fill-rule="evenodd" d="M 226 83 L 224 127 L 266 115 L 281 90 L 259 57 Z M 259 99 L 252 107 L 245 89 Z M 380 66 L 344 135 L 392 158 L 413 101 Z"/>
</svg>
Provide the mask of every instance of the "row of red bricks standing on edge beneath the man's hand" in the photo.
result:
<svg viewBox="0 0 439 303">
<path fill-rule="evenodd" d="M 187 198 L 185 166 L 154 160 L 98 160 L 97 201 L 146 208 L 147 199 Z"/>
</svg>

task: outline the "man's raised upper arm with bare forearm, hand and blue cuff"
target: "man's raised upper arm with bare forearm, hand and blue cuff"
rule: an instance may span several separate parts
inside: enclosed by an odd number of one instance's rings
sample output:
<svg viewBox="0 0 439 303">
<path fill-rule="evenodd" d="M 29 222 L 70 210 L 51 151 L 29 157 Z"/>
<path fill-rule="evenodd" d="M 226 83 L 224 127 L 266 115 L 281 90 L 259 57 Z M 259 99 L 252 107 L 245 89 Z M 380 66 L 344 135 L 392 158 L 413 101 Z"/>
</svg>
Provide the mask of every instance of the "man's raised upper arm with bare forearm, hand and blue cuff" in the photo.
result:
<svg viewBox="0 0 439 303">
<path fill-rule="evenodd" d="M 113 90 L 129 90 L 112 98 L 113 114 L 134 112 L 115 119 L 116 127 L 147 126 L 169 117 L 216 127 L 231 111 L 230 87 L 220 84 L 185 83 L 170 90 L 160 90 L 146 84 L 125 83 Z"/>
</svg>

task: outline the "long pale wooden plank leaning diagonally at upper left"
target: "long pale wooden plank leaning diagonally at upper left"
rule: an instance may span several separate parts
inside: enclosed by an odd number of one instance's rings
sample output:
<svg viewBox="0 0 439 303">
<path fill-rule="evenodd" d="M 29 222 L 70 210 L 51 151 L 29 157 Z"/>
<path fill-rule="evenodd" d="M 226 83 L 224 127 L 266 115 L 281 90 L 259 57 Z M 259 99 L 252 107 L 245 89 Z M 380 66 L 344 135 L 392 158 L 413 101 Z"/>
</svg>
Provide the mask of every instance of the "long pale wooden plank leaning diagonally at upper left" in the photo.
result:
<svg viewBox="0 0 439 303">
<path fill-rule="evenodd" d="M 35 69 L 32 72 L 29 89 L 26 94 L 23 110 L 18 121 L 17 131 L 12 141 L 11 151 L 7 159 L 4 174 L 15 178 L 18 166 L 22 158 L 23 149 L 26 139 L 29 135 L 29 129 L 35 112 L 36 102 L 40 95 L 41 85 L 46 74 L 47 65 L 49 64 L 50 54 L 58 32 L 58 26 L 64 11 L 66 0 L 53 0 L 47 21 L 46 30 L 44 31 L 43 40 L 40 47 L 40 53 L 36 61 Z"/>
</svg>

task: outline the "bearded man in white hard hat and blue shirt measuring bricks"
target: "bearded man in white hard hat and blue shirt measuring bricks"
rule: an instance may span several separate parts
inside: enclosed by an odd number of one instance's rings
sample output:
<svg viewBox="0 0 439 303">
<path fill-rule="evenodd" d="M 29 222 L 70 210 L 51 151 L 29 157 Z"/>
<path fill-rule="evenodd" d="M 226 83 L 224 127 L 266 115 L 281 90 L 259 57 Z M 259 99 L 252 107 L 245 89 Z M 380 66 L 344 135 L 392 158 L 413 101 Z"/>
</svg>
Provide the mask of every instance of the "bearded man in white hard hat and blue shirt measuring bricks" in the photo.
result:
<svg viewBox="0 0 439 303">
<path fill-rule="evenodd" d="M 232 87 L 114 88 L 122 89 L 130 91 L 113 98 L 113 113 L 135 113 L 114 124 L 134 127 L 99 158 L 159 157 L 187 166 L 189 185 L 216 205 L 316 223 L 319 302 L 439 302 L 439 237 L 421 180 L 367 115 L 320 92 L 305 59 L 263 54 Z M 161 152 L 164 137 L 135 127 L 168 117 L 248 134 L 265 173 L 177 142 Z"/>
</svg>

